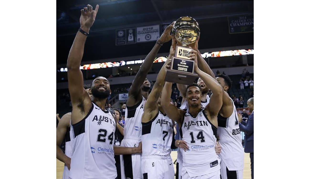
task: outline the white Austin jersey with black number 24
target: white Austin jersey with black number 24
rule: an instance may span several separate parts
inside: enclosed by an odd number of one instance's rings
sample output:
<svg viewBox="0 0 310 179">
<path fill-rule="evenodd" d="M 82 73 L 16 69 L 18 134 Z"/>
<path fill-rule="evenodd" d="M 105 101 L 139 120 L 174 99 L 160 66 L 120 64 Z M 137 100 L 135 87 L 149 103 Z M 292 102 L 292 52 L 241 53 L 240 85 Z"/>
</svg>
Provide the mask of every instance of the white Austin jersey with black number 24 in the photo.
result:
<svg viewBox="0 0 310 179">
<path fill-rule="evenodd" d="M 69 178 L 116 178 L 113 115 L 92 102 L 86 117 L 72 126 L 75 138 Z"/>
</svg>

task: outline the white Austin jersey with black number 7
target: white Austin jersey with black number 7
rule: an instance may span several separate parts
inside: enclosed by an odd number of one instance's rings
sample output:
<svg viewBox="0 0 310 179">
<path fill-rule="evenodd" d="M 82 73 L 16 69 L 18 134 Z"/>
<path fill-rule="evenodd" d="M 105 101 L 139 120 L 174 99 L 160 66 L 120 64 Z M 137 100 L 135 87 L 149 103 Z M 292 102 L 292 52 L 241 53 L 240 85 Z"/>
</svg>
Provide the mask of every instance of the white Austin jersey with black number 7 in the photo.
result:
<svg viewBox="0 0 310 179">
<path fill-rule="evenodd" d="M 170 157 L 172 133 L 172 120 L 158 110 L 152 120 L 142 123 L 142 157 L 145 155 Z"/>
</svg>

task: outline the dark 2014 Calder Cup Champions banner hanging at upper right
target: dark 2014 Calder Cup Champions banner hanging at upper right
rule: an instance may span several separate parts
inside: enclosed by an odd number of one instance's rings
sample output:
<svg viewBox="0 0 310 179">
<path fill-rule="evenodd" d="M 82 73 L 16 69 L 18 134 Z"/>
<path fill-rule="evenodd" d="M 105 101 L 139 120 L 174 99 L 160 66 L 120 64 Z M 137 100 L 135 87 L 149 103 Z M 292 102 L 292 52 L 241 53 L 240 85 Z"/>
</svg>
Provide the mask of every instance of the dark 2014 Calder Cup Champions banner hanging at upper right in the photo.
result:
<svg viewBox="0 0 310 179">
<path fill-rule="evenodd" d="M 229 34 L 254 32 L 254 15 L 230 16 L 228 18 Z"/>
</svg>

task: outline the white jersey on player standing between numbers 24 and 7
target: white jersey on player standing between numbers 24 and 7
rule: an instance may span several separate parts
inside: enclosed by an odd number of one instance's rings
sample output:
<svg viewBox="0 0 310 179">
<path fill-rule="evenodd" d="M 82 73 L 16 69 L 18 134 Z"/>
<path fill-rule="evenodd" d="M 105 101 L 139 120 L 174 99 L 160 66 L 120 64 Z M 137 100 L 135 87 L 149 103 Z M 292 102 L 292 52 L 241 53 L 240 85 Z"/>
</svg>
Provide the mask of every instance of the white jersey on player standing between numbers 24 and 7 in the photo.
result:
<svg viewBox="0 0 310 179">
<path fill-rule="evenodd" d="M 145 102 L 146 99 L 142 96 L 142 99 L 138 104 L 131 107 L 126 106 L 124 136 L 141 138 L 142 135 L 141 118 L 144 112 Z"/>
</svg>

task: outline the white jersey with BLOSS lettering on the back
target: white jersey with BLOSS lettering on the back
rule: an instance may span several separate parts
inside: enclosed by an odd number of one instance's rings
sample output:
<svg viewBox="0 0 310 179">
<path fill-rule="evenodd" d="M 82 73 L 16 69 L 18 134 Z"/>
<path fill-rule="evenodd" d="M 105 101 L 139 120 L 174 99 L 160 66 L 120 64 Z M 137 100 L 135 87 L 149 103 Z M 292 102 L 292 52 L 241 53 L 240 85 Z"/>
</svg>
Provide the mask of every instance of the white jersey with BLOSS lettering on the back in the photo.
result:
<svg viewBox="0 0 310 179">
<path fill-rule="evenodd" d="M 224 118 L 220 114 L 217 116 L 217 134 L 219 136 L 219 145 L 222 148 L 219 157 L 225 162 L 230 171 L 242 170 L 244 165 L 244 150 L 242 147 L 237 110 L 233 101 L 232 106 L 233 111 L 228 118 Z"/>
</svg>

